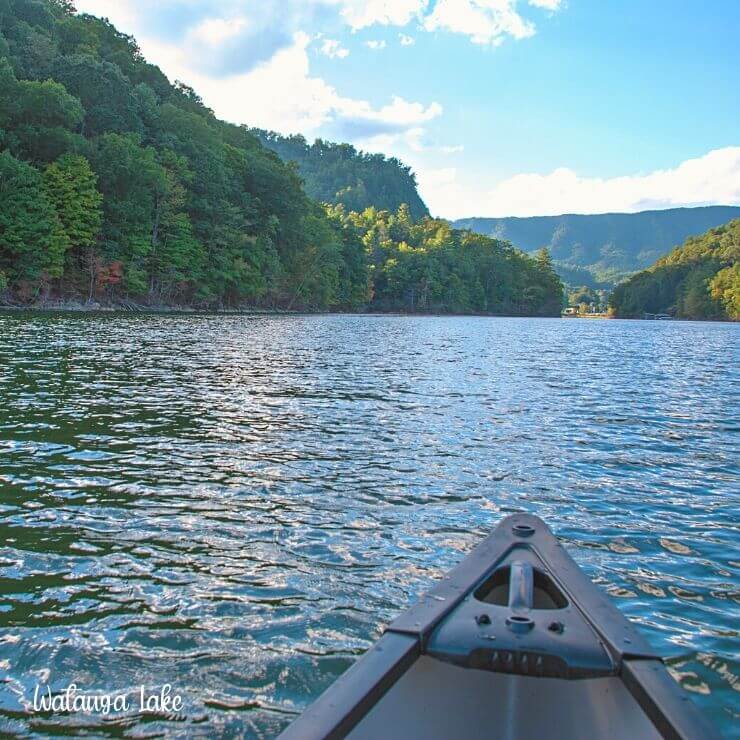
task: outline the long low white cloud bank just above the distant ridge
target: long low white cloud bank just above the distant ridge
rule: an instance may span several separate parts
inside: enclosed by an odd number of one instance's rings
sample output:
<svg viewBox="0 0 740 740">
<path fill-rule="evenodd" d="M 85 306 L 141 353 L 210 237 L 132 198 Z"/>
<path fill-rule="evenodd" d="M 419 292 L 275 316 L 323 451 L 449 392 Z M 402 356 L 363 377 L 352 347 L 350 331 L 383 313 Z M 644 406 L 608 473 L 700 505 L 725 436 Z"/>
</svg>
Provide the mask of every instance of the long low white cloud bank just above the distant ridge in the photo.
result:
<svg viewBox="0 0 740 740">
<path fill-rule="evenodd" d="M 701 206 L 740 205 L 740 147 L 715 149 L 672 169 L 612 178 L 583 177 L 561 167 L 493 186 L 461 182 L 454 168 L 421 170 L 422 196 L 433 213 L 465 216 L 555 216 Z"/>
</svg>

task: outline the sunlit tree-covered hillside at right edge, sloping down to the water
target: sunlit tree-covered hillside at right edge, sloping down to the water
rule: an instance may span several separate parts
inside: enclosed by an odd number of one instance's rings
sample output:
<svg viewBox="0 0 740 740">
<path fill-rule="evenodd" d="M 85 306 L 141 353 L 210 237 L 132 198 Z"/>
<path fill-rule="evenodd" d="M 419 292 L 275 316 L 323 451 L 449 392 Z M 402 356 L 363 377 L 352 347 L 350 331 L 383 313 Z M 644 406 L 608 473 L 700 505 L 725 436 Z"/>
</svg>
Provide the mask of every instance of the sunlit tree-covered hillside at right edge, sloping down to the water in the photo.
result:
<svg viewBox="0 0 740 740">
<path fill-rule="evenodd" d="M 740 320 L 740 219 L 710 229 L 618 285 L 617 316 L 669 313 L 688 319 Z"/>
</svg>

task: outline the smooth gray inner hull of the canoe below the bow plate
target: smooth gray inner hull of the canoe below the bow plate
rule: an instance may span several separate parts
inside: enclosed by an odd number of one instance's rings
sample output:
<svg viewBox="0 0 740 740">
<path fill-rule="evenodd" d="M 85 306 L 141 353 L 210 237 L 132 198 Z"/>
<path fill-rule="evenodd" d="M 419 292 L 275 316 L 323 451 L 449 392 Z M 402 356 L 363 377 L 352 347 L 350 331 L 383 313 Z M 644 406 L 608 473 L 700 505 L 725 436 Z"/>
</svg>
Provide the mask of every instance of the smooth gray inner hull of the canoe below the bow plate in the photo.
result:
<svg viewBox="0 0 740 740">
<path fill-rule="evenodd" d="M 647 740 L 660 734 L 615 677 L 510 676 L 421 656 L 348 737 Z"/>
</svg>

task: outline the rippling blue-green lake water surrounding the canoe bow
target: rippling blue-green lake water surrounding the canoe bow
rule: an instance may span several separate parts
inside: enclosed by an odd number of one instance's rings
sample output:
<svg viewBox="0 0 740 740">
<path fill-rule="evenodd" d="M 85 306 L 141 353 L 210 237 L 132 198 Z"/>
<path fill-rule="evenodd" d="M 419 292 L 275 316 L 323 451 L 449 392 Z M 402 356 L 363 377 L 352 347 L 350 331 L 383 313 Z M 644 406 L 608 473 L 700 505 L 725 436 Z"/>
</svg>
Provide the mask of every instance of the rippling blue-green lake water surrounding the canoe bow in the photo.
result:
<svg viewBox="0 0 740 740">
<path fill-rule="evenodd" d="M 737 727 L 740 326 L 0 315 L 0 734 L 272 737 L 512 511 Z M 33 714 L 170 683 L 180 712 Z"/>
</svg>

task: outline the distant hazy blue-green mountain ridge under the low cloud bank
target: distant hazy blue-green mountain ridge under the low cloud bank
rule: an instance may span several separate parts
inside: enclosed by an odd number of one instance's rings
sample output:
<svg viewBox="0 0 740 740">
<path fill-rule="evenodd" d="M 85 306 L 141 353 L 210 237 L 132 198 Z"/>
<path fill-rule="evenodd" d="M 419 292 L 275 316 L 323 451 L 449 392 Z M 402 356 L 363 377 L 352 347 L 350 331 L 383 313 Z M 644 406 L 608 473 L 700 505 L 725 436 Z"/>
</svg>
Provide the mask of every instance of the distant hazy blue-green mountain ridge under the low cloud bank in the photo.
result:
<svg viewBox="0 0 740 740">
<path fill-rule="evenodd" d="M 568 283 L 593 287 L 642 270 L 694 234 L 740 218 L 737 206 L 669 208 L 639 213 L 464 218 L 455 228 L 506 239 L 526 252 L 547 247 Z M 587 270 L 584 273 L 583 270 Z"/>
</svg>

